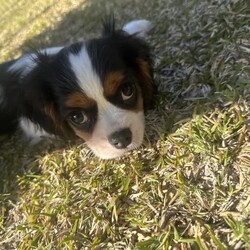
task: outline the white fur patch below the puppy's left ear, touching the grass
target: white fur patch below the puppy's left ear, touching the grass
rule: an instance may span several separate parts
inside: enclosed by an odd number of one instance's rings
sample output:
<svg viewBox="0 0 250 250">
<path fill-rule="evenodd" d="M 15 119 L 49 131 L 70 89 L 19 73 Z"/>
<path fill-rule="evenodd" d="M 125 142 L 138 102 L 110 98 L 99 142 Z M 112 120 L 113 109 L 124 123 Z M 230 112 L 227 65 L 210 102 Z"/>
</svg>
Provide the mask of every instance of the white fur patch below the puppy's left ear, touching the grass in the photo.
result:
<svg viewBox="0 0 250 250">
<path fill-rule="evenodd" d="M 41 137 L 53 137 L 53 135 L 47 133 L 40 126 L 24 117 L 20 118 L 19 126 L 25 135 L 32 140 L 32 143 L 38 142 Z"/>
</svg>

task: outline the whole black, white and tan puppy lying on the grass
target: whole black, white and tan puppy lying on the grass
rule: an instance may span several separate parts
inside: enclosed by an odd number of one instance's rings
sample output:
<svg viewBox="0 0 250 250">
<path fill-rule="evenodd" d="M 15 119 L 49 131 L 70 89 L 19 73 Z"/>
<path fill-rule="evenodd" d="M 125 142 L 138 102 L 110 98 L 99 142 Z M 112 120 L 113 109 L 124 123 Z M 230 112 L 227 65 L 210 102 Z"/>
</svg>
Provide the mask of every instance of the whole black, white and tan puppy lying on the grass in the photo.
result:
<svg viewBox="0 0 250 250">
<path fill-rule="evenodd" d="M 0 65 L 0 134 L 78 136 L 110 159 L 141 145 L 153 95 L 146 20 Z"/>
</svg>

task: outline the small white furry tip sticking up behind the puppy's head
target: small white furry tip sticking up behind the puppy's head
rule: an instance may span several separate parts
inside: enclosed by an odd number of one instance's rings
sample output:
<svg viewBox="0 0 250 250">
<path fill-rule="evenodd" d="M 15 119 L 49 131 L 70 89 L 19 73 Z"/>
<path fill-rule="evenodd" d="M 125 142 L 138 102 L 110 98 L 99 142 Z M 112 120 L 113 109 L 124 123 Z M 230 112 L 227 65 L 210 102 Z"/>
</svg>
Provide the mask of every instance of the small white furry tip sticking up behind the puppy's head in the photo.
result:
<svg viewBox="0 0 250 250">
<path fill-rule="evenodd" d="M 151 30 L 152 24 L 148 20 L 135 20 L 123 26 L 123 30 L 130 35 L 136 35 L 140 38 L 146 37 L 147 33 Z"/>
</svg>

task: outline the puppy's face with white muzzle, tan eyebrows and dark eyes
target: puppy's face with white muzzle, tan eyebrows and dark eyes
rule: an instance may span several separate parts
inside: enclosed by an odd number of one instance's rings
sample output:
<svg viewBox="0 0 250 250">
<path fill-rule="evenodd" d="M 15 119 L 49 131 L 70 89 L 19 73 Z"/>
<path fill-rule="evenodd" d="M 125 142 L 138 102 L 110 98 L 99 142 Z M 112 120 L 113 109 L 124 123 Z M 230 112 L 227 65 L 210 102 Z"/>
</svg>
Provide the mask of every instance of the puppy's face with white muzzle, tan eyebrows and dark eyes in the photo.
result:
<svg viewBox="0 0 250 250">
<path fill-rule="evenodd" d="M 75 134 L 101 158 L 118 157 L 138 147 L 144 114 L 137 80 L 122 70 L 107 72 L 103 81 L 95 71 L 82 72 L 76 72 L 82 91 L 69 94 L 65 103 L 66 119 Z"/>
</svg>

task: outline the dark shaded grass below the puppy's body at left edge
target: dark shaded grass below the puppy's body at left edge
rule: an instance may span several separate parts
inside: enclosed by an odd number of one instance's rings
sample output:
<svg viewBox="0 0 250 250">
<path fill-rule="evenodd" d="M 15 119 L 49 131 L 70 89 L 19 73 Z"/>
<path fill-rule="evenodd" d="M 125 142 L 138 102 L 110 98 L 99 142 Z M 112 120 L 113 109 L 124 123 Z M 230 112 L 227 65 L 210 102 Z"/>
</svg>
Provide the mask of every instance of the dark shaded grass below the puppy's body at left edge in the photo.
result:
<svg viewBox="0 0 250 250">
<path fill-rule="evenodd" d="M 44 139 L 30 144 L 23 135 L 15 134 L 0 138 L 0 197 L 15 198 L 18 194 L 18 178 L 32 172 L 39 174 L 39 159 L 56 150 L 69 149 L 74 143 L 62 140 Z M 0 199 L 1 201 L 1 199 Z"/>
</svg>

